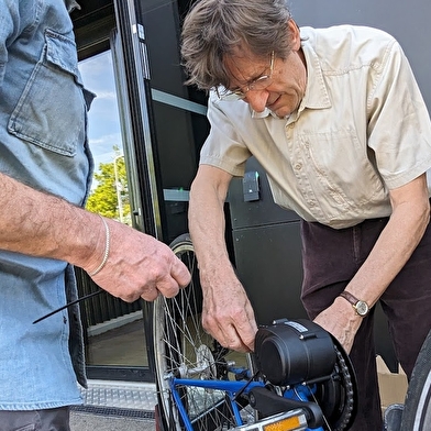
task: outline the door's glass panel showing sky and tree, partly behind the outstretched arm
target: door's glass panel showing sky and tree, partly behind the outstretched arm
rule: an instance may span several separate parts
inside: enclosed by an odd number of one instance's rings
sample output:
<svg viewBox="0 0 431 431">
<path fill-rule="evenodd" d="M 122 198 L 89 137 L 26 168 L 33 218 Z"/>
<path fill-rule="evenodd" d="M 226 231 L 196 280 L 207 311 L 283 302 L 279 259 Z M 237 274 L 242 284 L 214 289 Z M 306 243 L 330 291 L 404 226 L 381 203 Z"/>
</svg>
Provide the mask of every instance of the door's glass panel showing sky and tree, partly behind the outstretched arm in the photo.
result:
<svg viewBox="0 0 431 431">
<path fill-rule="evenodd" d="M 112 52 L 81 60 L 79 69 L 86 87 L 97 95 L 89 111 L 95 174 L 87 209 L 132 225 Z M 81 296 L 98 289 L 84 272 L 77 269 L 77 275 Z M 81 303 L 88 366 L 147 366 L 142 305 L 126 303 L 108 292 Z"/>
</svg>

